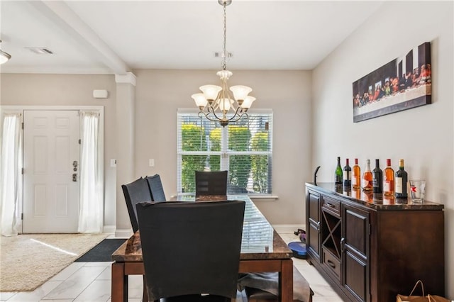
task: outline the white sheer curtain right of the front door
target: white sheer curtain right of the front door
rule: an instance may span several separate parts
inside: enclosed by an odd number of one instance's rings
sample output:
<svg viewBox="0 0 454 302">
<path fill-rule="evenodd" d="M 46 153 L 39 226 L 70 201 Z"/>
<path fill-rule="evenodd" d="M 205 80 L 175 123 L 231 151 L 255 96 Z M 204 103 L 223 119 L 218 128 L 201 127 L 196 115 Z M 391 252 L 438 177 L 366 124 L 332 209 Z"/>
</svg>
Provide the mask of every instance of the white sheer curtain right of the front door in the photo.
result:
<svg viewBox="0 0 454 302">
<path fill-rule="evenodd" d="M 102 233 L 104 192 L 102 184 L 99 113 L 81 112 L 82 159 L 80 162 L 79 233 Z"/>
</svg>

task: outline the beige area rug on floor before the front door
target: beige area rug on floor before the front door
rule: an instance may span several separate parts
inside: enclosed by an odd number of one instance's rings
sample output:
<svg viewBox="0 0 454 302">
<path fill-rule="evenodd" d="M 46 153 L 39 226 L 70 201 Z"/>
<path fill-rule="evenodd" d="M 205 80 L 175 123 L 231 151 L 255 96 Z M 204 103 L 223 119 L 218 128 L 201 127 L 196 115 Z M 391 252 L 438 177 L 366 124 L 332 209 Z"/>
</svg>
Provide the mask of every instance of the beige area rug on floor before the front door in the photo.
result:
<svg viewBox="0 0 454 302">
<path fill-rule="evenodd" d="M 0 291 L 33 291 L 107 234 L 1 236 Z"/>
</svg>

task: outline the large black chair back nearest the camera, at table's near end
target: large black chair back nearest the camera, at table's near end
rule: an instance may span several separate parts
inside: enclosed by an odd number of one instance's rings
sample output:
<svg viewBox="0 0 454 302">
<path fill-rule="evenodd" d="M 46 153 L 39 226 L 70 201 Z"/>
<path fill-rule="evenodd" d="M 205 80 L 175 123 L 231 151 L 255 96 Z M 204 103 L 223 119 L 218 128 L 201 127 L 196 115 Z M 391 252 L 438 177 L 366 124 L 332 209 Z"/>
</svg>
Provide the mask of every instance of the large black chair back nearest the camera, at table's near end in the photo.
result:
<svg viewBox="0 0 454 302">
<path fill-rule="evenodd" d="M 148 301 L 236 298 L 244 201 L 136 205 Z"/>
</svg>

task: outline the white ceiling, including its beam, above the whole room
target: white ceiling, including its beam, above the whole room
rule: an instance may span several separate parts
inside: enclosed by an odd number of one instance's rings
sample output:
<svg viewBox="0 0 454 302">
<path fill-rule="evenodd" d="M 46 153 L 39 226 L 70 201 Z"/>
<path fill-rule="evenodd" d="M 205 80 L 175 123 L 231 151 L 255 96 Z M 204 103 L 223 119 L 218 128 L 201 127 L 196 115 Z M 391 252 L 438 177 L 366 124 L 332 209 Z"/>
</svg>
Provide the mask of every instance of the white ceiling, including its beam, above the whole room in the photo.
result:
<svg viewBox="0 0 454 302">
<path fill-rule="evenodd" d="M 228 69 L 313 69 L 383 1 L 251 1 L 227 6 Z M 221 69 L 223 7 L 199 1 L 4 1 L 1 72 L 124 74 Z M 47 47 L 38 55 L 26 47 Z"/>
</svg>

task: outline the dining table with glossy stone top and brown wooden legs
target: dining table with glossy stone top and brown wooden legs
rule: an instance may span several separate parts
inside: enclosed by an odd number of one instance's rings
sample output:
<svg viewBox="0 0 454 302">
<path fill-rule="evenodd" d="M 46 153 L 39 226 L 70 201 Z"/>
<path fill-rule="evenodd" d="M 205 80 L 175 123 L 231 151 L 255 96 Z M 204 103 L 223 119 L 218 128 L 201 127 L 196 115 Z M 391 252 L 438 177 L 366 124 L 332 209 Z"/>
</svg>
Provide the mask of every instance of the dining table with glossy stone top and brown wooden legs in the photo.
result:
<svg viewBox="0 0 454 302">
<path fill-rule="evenodd" d="M 177 201 L 188 202 L 229 200 L 245 201 L 239 273 L 278 272 L 279 301 L 293 301 L 293 252 L 248 195 L 198 196 L 197 198 L 184 195 L 177 198 Z M 140 230 L 118 247 L 112 254 L 112 261 L 111 301 L 126 302 L 128 301 L 128 276 L 145 274 Z M 147 301 L 145 289 L 143 298 L 143 301 Z"/>
</svg>

